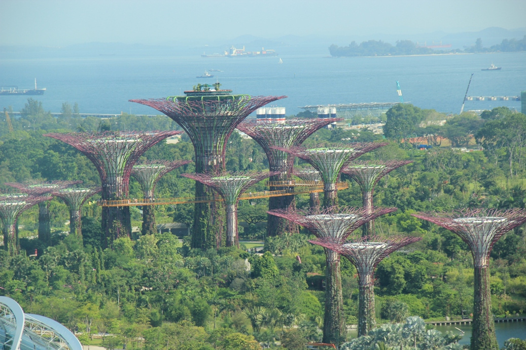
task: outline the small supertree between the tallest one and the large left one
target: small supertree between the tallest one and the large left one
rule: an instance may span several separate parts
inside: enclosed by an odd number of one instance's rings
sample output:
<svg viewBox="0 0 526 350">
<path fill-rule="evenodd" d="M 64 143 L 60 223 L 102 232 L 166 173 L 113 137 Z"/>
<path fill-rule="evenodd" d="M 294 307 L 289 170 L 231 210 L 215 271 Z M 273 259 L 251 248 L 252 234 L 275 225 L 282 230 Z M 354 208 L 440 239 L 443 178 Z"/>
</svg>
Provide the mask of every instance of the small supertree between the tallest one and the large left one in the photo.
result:
<svg viewBox="0 0 526 350">
<path fill-rule="evenodd" d="M 131 169 L 131 176 L 133 176 L 143 188 L 144 199 L 153 200 L 155 198 L 154 191 L 157 181 L 165 176 L 168 172 L 191 163 L 191 160 L 150 160 L 141 164 L 135 165 Z M 143 206 L 143 227 L 141 233 L 154 234 L 157 232 L 155 227 L 155 213 L 152 205 Z"/>
</svg>

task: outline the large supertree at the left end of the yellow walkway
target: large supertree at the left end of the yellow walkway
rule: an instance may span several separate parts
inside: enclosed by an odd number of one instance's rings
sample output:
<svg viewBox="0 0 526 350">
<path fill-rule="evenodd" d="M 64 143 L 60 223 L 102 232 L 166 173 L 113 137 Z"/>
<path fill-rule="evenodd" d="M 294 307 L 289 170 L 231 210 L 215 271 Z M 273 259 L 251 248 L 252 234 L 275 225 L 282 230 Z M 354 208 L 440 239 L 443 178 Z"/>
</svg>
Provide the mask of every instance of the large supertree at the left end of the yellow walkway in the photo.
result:
<svg viewBox="0 0 526 350">
<path fill-rule="evenodd" d="M 92 161 L 102 183 L 103 200 L 122 200 L 128 199 L 131 168 L 139 157 L 156 143 L 180 133 L 182 131 L 105 131 L 48 133 L 44 136 L 68 143 Z M 119 237 L 131 237 L 129 207 L 103 207 L 102 228 L 106 245 Z"/>
</svg>

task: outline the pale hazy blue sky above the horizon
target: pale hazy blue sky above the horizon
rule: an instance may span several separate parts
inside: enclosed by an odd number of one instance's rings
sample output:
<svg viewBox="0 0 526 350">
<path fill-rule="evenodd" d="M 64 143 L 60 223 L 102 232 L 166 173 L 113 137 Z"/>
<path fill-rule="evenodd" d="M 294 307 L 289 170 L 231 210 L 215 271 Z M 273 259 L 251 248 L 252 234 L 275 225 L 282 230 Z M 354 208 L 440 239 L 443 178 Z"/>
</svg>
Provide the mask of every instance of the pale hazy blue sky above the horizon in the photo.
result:
<svg viewBox="0 0 526 350">
<path fill-rule="evenodd" d="M 0 45 L 152 43 L 250 34 L 477 32 L 526 26 L 525 0 L 0 0 Z"/>
</svg>

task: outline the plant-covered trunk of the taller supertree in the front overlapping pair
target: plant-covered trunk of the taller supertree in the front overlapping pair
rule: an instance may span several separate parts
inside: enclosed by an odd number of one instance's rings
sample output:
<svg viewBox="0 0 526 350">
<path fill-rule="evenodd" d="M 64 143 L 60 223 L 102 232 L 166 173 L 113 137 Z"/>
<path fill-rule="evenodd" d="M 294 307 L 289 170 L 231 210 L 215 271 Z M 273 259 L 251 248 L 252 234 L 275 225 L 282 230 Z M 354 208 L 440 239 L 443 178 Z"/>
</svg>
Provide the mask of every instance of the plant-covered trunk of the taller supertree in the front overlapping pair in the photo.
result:
<svg viewBox="0 0 526 350">
<path fill-rule="evenodd" d="M 341 344 L 347 330 L 343 314 L 340 255 L 325 249 L 325 316 L 323 317 L 323 343 Z"/>
</svg>

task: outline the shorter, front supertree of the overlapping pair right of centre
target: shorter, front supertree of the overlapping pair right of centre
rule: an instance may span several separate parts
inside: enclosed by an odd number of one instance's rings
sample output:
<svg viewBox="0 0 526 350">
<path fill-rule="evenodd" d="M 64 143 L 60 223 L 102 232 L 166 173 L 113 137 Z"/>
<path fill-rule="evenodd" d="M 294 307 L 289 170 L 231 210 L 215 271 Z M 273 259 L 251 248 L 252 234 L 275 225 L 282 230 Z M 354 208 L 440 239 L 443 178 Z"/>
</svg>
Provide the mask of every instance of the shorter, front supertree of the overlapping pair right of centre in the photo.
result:
<svg viewBox="0 0 526 350">
<path fill-rule="evenodd" d="M 365 236 L 354 242 L 323 237 L 309 241 L 345 256 L 355 265 L 359 279 L 358 336 L 367 335 L 375 328 L 375 280 L 376 266 L 392 252 L 410 243 L 420 241 L 420 237 Z"/>
</svg>

